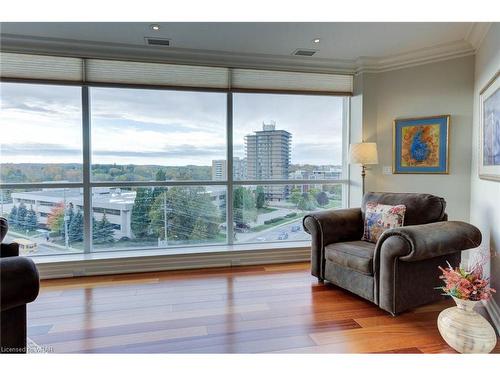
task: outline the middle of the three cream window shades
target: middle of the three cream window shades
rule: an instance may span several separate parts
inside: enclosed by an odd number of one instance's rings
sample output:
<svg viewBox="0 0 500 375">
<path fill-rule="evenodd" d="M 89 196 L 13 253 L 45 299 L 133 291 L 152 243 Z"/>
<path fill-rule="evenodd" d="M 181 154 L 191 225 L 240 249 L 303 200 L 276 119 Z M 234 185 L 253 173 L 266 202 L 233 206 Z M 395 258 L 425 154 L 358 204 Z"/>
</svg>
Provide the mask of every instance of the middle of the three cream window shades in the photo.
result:
<svg viewBox="0 0 500 375">
<path fill-rule="evenodd" d="M 227 68 L 88 59 L 86 81 L 227 89 Z"/>
</svg>

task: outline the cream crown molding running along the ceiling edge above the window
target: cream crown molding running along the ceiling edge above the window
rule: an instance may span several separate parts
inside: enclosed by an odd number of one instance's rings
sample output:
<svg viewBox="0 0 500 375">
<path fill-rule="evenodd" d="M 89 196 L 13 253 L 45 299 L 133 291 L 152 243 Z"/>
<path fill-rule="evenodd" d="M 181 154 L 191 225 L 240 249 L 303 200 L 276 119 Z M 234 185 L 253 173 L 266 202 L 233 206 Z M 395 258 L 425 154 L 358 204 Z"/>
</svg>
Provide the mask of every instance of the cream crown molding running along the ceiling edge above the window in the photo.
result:
<svg viewBox="0 0 500 375">
<path fill-rule="evenodd" d="M 356 60 L 231 53 L 214 50 L 28 37 L 13 34 L 1 35 L 1 48 L 5 52 L 169 62 L 233 68 L 343 74 L 383 73 L 473 55 L 477 49 L 475 46 L 480 45 L 490 26 L 491 24 L 474 23 L 467 32 L 467 40 L 440 44 L 393 56 L 365 56 L 359 57 Z"/>
</svg>

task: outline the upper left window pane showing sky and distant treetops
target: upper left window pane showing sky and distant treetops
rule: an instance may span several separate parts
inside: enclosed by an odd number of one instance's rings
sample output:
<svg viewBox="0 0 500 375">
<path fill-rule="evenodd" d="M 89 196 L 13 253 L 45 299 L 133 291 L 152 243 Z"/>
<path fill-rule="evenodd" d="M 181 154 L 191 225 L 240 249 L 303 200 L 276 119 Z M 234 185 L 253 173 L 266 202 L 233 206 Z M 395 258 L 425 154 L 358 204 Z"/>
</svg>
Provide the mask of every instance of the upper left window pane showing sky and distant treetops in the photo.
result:
<svg viewBox="0 0 500 375">
<path fill-rule="evenodd" d="M 82 181 L 81 88 L 2 83 L 0 181 Z"/>
</svg>

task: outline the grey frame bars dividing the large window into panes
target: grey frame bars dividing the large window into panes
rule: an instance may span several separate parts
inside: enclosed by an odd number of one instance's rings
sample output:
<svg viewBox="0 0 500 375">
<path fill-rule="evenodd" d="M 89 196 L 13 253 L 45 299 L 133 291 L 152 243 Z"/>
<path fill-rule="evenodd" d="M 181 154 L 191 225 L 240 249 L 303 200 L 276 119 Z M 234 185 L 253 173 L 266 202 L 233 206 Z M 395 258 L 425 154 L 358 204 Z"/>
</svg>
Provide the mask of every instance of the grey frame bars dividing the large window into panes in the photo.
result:
<svg viewBox="0 0 500 375">
<path fill-rule="evenodd" d="M 54 86 L 76 86 L 81 88 L 82 102 L 82 182 L 44 182 L 44 183 L 3 183 L 0 182 L 0 190 L 4 189 L 38 189 L 38 188 L 82 188 L 83 190 L 83 253 L 94 253 L 92 243 L 92 189 L 96 187 L 172 187 L 172 186 L 225 186 L 226 187 L 226 244 L 228 246 L 249 245 L 251 243 L 238 243 L 234 241 L 233 225 L 233 191 L 235 186 L 244 185 L 342 185 L 342 207 L 348 207 L 350 194 L 350 176 L 349 165 L 347 162 L 347 153 L 350 136 L 350 105 L 351 95 L 348 93 L 329 93 L 329 92 L 308 92 L 308 91 L 281 91 L 281 90 L 245 90 L 245 89 L 220 89 L 220 88 L 193 88 L 193 87 L 166 87 L 157 85 L 143 84 L 120 84 L 120 83 L 81 83 L 68 81 L 53 81 L 41 79 L 24 78 L 1 78 L 1 82 L 19 83 L 19 84 L 42 84 Z M 164 91 L 191 91 L 191 92 L 221 92 L 226 94 L 226 178 L 224 180 L 177 180 L 177 181 L 92 181 L 92 143 L 91 143 L 91 108 L 90 108 L 90 89 L 92 87 L 105 87 L 117 89 L 156 89 Z M 341 96 L 343 98 L 343 116 L 342 116 L 342 179 L 281 179 L 281 180 L 235 180 L 233 176 L 233 94 L 251 93 L 259 94 L 283 94 L 283 95 L 311 95 L 311 96 Z M 286 241 L 279 241 L 285 243 Z M 306 241 L 301 241 L 306 242 Z M 274 242 L 266 242 L 273 247 Z M 175 247 L 220 247 L 220 244 L 202 244 Z M 174 247 L 174 246 L 172 246 Z M 170 248 L 170 247 L 169 247 Z M 144 250 L 151 248 L 144 247 Z M 158 248 L 155 248 L 158 249 Z M 137 249 L 134 249 L 137 250 Z M 116 250 L 109 250 L 116 251 Z M 35 255 L 36 256 L 36 255 Z M 39 255 L 40 257 L 49 257 L 52 255 Z"/>
</svg>

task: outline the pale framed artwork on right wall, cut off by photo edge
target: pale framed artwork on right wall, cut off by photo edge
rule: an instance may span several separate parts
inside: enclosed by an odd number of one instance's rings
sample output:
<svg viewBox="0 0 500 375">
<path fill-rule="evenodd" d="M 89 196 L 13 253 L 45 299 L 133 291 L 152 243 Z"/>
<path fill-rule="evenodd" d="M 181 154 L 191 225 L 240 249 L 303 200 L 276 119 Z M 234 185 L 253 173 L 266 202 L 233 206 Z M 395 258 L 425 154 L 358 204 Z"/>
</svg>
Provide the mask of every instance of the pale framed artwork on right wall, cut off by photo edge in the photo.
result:
<svg viewBox="0 0 500 375">
<path fill-rule="evenodd" d="M 479 178 L 500 181 L 500 71 L 479 94 Z"/>
</svg>

